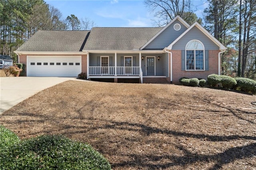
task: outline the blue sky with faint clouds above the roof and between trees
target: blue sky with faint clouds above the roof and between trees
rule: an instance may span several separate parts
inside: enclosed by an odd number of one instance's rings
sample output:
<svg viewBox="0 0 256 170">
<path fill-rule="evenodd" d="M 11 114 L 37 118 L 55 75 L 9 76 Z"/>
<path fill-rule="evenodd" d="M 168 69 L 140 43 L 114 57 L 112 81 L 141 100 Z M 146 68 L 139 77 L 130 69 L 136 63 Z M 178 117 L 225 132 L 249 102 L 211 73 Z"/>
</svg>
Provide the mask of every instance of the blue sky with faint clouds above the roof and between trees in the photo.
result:
<svg viewBox="0 0 256 170">
<path fill-rule="evenodd" d="M 90 18 L 98 27 L 153 27 L 154 14 L 143 0 L 45 0 L 58 8 L 63 18 L 74 14 Z M 192 0 L 198 17 L 202 18 L 206 0 Z"/>
</svg>

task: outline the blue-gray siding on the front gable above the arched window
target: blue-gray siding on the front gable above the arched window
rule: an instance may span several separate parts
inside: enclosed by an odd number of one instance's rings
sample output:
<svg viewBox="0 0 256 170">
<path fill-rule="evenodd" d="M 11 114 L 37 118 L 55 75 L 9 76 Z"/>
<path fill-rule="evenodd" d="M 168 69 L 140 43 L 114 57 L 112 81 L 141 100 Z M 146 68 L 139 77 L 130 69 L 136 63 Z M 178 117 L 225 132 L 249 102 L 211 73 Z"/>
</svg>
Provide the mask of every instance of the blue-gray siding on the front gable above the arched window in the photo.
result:
<svg viewBox="0 0 256 170">
<path fill-rule="evenodd" d="M 214 49 L 220 49 L 218 45 L 216 45 L 210 38 L 208 38 L 204 33 L 202 33 L 198 28 L 194 27 L 192 28 L 189 32 L 187 32 L 186 35 L 184 35 L 178 42 L 176 42 L 173 46 L 172 49 L 181 49 L 185 50 L 186 44 L 190 40 L 199 40 L 204 44 L 204 49 L 205 50 L 214 50 Z"/>
</svg>

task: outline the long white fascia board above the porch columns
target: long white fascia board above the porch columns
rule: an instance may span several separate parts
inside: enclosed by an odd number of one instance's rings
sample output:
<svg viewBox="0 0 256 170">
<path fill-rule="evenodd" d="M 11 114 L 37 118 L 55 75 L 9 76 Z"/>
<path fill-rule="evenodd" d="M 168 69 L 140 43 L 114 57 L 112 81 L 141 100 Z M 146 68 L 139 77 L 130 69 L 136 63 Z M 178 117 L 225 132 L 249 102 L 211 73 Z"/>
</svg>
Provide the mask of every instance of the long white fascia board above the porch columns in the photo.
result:
<svg viewBox="0 0 256 170">
<path fill-rule="evenodd" d="M 164 53 L 163 50 L 86 50 L 88 53 Z"/>
</svg>

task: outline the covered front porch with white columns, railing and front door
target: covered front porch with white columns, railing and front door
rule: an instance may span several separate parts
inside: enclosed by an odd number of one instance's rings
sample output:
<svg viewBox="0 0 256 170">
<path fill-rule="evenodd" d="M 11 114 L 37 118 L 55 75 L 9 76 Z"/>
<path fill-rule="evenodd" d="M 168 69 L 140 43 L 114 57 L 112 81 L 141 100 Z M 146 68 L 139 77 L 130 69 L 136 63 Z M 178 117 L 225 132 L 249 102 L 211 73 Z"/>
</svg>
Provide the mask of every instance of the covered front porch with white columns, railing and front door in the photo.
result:
<svg viewBox="0 0 256 170">
<path fill-rule="evenodd" d="M 169 77 L 168 53 L 88 53 L 88 79 Z M 117 82 L 117 80 L 115 80 Z"/>
</svg>

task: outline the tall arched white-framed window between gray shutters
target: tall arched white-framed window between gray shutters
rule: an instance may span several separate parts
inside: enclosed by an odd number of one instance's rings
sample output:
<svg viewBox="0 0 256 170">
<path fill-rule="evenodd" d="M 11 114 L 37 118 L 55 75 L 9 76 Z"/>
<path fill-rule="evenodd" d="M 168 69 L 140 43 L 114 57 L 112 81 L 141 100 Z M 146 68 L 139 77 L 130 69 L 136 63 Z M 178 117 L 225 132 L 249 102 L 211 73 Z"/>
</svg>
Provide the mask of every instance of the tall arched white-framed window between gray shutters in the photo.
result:
<svg viewBox="0 0 256 170">
<path fill-rule="evenodd" d="M 204 70 L 204 44 L 198 40 L 186 45 L 186 70 Z"/>
</svg>

